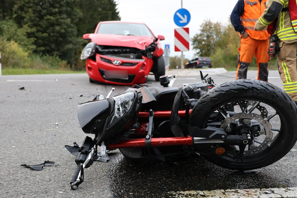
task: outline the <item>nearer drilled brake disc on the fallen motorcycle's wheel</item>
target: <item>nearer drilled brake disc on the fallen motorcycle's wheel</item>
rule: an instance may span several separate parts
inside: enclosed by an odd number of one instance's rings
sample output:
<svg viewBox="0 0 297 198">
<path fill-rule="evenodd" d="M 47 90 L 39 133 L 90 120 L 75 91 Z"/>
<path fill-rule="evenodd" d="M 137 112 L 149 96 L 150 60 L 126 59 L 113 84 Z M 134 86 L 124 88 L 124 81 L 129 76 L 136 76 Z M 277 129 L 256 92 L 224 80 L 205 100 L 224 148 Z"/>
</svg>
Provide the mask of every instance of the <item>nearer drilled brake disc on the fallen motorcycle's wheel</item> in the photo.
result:
<svg viewBox="0 0 297 198">
<path fill-rule="evenodd" d="M 248 113 L 237 113 L 234 116 L 228 117 L 225 120 L 223 120 L 221 122 L 221 127 L 220 128 L 222 130 L 225 130 L 225 128 L 228 127 L 228 125 L 231 122 L 237 121 L 239 119 L 249 119 L 250 121 L 255 120 L 256 122 L 259 122 L 264 127 L 264 131 L 265 131 L 265 134 L 261 134 L 261 135 L 265 135 L 265 139 L 263 140 L 263 142 L 259 146 L 256 146 L 254 149 L 244 151 L 243 154 L 253 155 L 256 152 L 259 152 L 259 151 L 264 150 L 265 148 L 267 148 L 268 144 L 272 141 L 272 138 L 273 138 L 273 133 L 271 131 L 272 126 L 269 123 L 269 121 L 264 120 L 263 117 L 260 116 L 260 115 L 257 115 L 255 113 L 250 113 L 250 114 L 248 114 Z"/>
</svg>

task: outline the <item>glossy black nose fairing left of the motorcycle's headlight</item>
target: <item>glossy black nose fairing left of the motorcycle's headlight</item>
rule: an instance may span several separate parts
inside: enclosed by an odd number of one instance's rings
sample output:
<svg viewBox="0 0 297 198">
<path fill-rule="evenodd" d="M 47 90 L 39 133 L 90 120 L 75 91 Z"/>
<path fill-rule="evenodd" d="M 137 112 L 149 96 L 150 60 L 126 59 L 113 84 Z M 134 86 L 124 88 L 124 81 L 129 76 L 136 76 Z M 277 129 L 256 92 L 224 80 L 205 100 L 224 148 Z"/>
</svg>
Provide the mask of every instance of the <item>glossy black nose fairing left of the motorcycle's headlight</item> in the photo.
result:
<svg viewBox="0 0 297 198">
<path fill-rule="evenodd" d="M 77 107 L 78 122 L 85 133 L 97 134 L 102 131 L 109 114 L 107 100 L 85 102 Z"/>
</svg>

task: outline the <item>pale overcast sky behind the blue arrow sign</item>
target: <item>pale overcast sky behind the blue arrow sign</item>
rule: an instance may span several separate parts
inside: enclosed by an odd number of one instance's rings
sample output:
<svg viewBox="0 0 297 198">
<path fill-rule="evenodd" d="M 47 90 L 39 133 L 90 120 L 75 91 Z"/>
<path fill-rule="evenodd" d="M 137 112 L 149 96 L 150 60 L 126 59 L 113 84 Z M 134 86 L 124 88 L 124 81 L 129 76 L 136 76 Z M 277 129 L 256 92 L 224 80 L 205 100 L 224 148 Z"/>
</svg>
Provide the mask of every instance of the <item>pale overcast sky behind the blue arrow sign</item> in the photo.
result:
<svg viewBox="0 0 297 198">
<path fill-rule="evenodd" d="M 200 25 L 210 19 L 213 22 L 227 24 L 230 14 L 238 0 L 115 0 L 117 11 L 120 12 L 122 21 L 144 22 L 152 32 L 163 35 L 162 47 L 170 45 L 170 56 L 181 56 L 181 52 L 174 52 L 174 29 L 180 28 L 174 23 L 173 16 L 181 8 L 190 12 L 191 20 L 188 25 L 190 38 L 199 32 Z M 186 58 L 192 59 L 190 41 L 190 51 L 183 52 Z"/>
</svg>

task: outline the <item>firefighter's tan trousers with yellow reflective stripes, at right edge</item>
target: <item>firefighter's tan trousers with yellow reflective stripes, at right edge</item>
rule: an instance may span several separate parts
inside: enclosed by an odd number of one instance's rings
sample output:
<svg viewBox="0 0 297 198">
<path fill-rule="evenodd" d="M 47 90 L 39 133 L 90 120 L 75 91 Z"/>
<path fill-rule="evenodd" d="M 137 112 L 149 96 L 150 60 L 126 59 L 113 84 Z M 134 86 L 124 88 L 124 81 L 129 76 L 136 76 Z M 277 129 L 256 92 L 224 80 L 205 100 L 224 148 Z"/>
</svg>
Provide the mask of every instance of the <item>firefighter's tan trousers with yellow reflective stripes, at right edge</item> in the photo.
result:
<svg viewBox="0 0 297 198">
<path fill-rule="evenodd" d="M 279 41 L 280 52 L 276 54 L 280 78 L 285 92 L 297 102 L 297 42 Z"/>
</svg>

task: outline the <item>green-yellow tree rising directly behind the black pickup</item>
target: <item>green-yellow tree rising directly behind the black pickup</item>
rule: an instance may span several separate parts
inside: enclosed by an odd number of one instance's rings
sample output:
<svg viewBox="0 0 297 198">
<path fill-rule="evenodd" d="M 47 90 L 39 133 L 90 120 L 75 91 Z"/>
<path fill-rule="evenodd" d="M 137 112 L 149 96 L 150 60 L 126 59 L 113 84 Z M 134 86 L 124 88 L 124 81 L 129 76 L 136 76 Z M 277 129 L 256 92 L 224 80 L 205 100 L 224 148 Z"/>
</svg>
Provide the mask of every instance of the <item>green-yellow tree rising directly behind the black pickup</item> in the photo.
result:
<svg viewBox="0 0 297 198">
<path fill-rule="evenodd" d="M 222 25 L 219 22 L 207 20 L 202 23 L 200 33 L 191 38 L 196 55 L 210 57 L 217 47 L 222 47 Z"/>
</svg>

